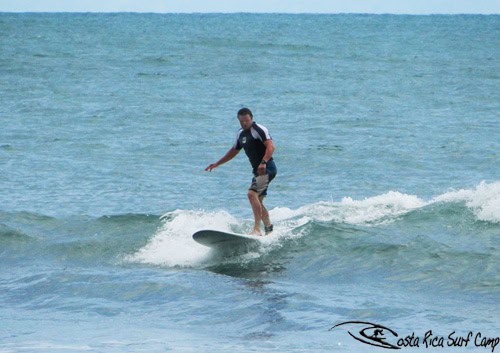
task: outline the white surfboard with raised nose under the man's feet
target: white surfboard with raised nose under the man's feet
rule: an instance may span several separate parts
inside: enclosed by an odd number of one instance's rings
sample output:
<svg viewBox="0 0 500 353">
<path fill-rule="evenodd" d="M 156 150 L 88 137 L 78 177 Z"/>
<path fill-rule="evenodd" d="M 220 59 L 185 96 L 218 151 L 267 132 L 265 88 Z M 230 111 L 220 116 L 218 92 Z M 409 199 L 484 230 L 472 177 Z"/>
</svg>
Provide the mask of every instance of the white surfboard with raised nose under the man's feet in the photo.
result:
<svg viewBox="0 0 500 353">
<path fill-rule="evenodd" d="M 205 246 L 215 249 L 253 247 L 260 244 L 260 237 L 219 230 L 199 230 L 193 234 L 193 239 Z"/>
</svg>

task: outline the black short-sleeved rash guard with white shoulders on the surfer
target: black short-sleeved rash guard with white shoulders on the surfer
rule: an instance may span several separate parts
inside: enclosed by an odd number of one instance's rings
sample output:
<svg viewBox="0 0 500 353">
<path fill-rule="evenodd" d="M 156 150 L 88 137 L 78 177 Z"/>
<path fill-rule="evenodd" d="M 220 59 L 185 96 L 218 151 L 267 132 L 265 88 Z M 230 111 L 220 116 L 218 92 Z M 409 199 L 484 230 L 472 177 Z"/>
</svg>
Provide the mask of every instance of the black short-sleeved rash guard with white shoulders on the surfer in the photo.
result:
<svg viewBox="0 0 500 353">
<path fill-rule="evenodd" d="M 255 121 L 248 130 L 239 129 L 236 136 L 234 148 L 245 150 L 245 153 L 250 160 L 253 172 L 256 173 L 264 154 L 266 153 L 265 141 L 272 140 L 269 131 L 263 125 L 257 124 Z M 272 158 L 270 159 L 272 160 Z"/>
</svg>

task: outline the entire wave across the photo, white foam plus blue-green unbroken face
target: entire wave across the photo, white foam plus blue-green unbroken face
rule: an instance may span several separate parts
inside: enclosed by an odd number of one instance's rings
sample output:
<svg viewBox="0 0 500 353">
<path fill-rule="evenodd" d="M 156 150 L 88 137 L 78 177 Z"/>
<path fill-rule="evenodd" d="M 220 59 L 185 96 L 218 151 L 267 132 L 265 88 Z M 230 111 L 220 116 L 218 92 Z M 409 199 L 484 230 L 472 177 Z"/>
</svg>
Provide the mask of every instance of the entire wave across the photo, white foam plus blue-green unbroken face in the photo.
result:
<svg viewBox="0 0 500 353">
<path fill-rule="evenodd" d="M 414 273 L 412 264 L 420 264 L 417 267 L 421 269 L 427 263 L 439 264 L 436 259 L 449 264 L 459 258 L 470 263 L 469 267 L 481 257 L 488 263 L 498 260 L 495 239 L 500 223 L 500 182 L 481 182 L 429 200 L 390 191 L 298 209 L 277 207 L 270 213 L 273 236 L 263 238 L 262 246 L 253 252 L 233 257 L 216 257 L 192 240 L 192 234 L 200 229 L 238 233 L 251 229 L 251 219 L 237 218 L 224 210 L 175 210 L 161 217 L 123 214 L 63 219 L 0 212 L 0 244 L 3 258 L 12 261 L 236 267 L 247 271 L 278 270 L 284 266 L 281 261 L 295 254 L 300 254 L 298 263 L 304 261 L 304 271 L 322 268 L 321 273 L 328 272 L 324 269 L 330 268 L 330 261 L 335 261 L 333 267 L 338 269 L 398 263 L 409 274 Z M 316 268 L 316 262 L 323 265 Z M 446 271 L 454 267 L 446 267 Z"/>
</svg>

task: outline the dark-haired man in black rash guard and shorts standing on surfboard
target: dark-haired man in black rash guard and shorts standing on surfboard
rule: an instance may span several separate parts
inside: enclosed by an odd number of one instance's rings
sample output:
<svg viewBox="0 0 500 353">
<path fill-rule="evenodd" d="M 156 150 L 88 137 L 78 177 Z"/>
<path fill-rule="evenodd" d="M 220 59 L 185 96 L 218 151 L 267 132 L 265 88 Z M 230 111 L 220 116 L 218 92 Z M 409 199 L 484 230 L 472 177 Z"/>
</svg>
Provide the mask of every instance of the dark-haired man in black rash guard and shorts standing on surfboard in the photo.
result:
<svg viewBox="0 0 500 353">
<path fill-rule="evenodd" d="M 267 195 L 269 183 L 277 173 L 276 164 L 273 160 L 273 140 L 265 126 L 253 121 L 253 114 L 250 109 L 240 109 L 238 111 L 238 120 L 241 129 L 238 130 L 235 144 L 221 159 L 210 164 L 205 170 L 212 171 L 219 165 L 230 161 L 243 148 L 253 168 L 252 184 L 248 189 L 248 200 L 252 206 L 255 220 L 251 234 L 262 235 L 260 231 L 261 221 L 264 222 L 265 233 L 269 234 L 273 231 L 273 225 L 269 219 L 269 212 L 264 206 L 264 198 Z"/>
</svg>

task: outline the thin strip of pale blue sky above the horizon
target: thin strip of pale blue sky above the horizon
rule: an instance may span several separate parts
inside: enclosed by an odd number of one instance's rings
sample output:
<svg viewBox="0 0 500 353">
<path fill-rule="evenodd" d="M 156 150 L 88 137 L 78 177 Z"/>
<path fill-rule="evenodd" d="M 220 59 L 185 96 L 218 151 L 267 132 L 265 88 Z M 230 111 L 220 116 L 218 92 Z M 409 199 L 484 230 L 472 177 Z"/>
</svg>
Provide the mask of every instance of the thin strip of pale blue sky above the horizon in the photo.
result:
<svg viewBox="0 0 500 353">
<path fill-rule="evenodd" d="M 500 0 L 0 0 L 0 12 L 500 14 Z"/>
</svg>

